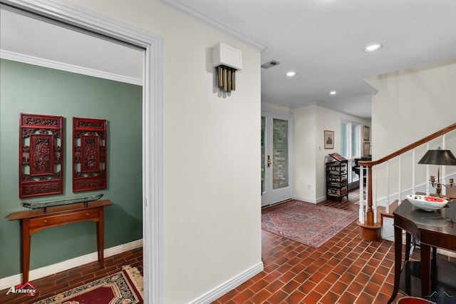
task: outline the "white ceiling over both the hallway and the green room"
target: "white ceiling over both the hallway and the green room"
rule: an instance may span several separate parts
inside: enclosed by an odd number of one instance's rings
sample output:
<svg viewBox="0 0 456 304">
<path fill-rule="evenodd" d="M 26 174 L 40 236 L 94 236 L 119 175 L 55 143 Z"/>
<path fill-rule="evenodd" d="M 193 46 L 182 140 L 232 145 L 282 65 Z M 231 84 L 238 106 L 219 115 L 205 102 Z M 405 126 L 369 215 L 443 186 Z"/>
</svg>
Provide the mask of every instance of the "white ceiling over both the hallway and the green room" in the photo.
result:
<svg viewBox="0 0 456 304">
<path fill-rule="evenodd" d="M 456 57 L 455 0 L 160 1 L 258 49 L 261 64 L 279 61 L 261 69 L 261 101 L 289 108 L 317 104 L 371 119 L 375 89 L 363 79 Z M 2 56 L 66 61 L 141 83 L 141 50 L 27 17 L 2 7 Z M 79 39 L 93 50 L 117 51 L 81 52 L 82 43 L 71 45 Z M 363 51 L 372 43 L 383 48 Z M 287 71 L 298 75 L 287 78 Z"/>
</svg>

